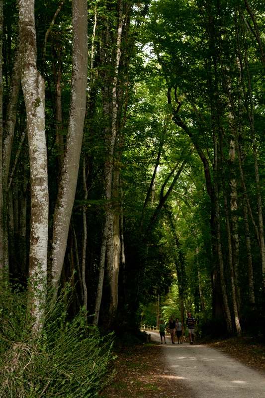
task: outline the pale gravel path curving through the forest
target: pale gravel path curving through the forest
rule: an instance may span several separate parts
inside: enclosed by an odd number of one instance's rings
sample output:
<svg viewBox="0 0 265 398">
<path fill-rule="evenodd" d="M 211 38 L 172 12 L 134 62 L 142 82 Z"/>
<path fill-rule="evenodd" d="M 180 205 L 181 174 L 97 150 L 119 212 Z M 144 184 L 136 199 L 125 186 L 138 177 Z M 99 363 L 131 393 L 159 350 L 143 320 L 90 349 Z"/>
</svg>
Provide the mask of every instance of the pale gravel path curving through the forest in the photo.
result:
<svg viewBox="0 0 265 398">
<path fill-rule="evenodd" d="M 148 332 L 151 339 L 160 342 L 160 335 Z M 164 340 L 164 339 L 163 339 Z M 165 364 L 176 379 L 190 389 L 196 398 L 264 398 L 265 375 L 242 365 L 239 361 L 207 345 L 161 346 Z M 167 365 L 166 365 L 167 366 Z"/>
</svg>

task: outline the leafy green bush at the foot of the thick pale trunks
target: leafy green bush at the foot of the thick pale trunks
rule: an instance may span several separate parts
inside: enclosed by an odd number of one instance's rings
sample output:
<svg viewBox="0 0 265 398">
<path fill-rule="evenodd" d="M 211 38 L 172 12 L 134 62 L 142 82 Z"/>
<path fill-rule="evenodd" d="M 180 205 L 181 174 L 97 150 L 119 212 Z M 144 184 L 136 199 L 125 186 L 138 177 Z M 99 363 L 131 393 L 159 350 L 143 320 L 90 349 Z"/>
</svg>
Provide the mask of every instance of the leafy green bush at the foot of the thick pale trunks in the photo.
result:
<svg viewBox="0 0 265 398">
<path fill-rule="evenodd" d="M 82 311 L 69 319 L 66 298 L 48 300 L 43 328 L 34 337 L 26 293 L 1 295 L 0 397 L 95 397 L 109 382 L 112 335 L 100 337 Z"/>
</svg>

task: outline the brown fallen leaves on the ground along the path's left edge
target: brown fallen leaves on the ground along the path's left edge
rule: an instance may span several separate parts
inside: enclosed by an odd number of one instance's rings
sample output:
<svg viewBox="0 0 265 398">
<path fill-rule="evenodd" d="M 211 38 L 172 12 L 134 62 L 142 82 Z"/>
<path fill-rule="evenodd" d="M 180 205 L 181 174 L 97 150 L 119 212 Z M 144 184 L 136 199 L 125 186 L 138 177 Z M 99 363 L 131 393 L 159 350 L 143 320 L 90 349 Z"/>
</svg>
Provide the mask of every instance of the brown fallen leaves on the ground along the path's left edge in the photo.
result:
<svg viewBox="0 0 265 398">
<path fill-rule="evenodd" d="M 187 398 L 191 391 L 167 369 L 160 345 L 125 348 L 115 362 L 116 376 L 101 398 Z"/>
</svg>

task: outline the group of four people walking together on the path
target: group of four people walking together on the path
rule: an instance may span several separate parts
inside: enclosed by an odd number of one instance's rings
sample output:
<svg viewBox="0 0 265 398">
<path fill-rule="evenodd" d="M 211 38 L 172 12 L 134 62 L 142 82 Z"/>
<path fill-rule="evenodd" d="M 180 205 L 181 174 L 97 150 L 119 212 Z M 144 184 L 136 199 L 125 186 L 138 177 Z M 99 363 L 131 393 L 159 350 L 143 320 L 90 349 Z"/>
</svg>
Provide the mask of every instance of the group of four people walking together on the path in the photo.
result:
<svg viewBox="0 0 265 398">
<path fill-rule="evenodd" d="M 195 324 L 196 324 L 196 319 L 191 316 L 191 312 L 188 312 L 187 318 L 186 318 L 186 325 L 188 328 L 189 344 L 193 344 L 193 335 L 194 335 Z M 164 337 L 165 344 L 167 344 L 166 343 L 166 334 L 165 334 L 166 328 L 167 328 L 167 325 L 165 324 L 164 320 L 162 320 L 160 323 L 161 344 L 163 344 L 163 337 Z M 177 344 L 182 344 L 182 341 L 181 341 L 182 340 L 182 323 L 179 322 L 178 318 L 175 320 L 174 316 L 171 315 L 169 323 L 168 323 L 168 329 L 171 334 L 172 344 L 175 344 L 176 335 L 177 335 Z"/>
</svg>

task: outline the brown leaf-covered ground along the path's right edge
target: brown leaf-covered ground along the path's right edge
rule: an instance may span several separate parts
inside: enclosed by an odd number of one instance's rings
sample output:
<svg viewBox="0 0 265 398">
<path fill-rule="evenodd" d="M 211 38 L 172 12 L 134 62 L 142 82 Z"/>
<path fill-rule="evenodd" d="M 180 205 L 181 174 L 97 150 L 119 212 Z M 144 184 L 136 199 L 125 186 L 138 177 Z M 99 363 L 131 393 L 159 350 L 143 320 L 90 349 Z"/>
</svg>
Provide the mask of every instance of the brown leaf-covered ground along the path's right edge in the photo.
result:
<svg viewBox="0 0 265 398">
<path fill-rule="evenodd" d="M 257 343 L 253 337 L 232 337 L 207 345 L 236 358 L 244 365 L 265 371 L 265 344 Z"/>
</svg>

